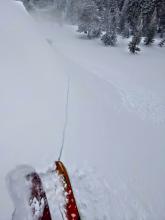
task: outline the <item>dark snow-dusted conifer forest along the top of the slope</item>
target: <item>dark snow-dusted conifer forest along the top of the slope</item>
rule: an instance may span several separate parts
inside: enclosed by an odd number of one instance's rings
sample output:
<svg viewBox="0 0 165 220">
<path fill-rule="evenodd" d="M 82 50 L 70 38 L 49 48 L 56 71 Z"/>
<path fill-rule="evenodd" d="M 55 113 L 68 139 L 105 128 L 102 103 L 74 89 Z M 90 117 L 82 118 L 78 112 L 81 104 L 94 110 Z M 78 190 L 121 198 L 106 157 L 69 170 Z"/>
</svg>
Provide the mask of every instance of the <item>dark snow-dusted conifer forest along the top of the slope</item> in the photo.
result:
<svg viewBox="0 0 165 220">
<path fill-rule="evenodd" d="M 165 0 L 22 0 L 30 11 L 45 9 L 77 25 L 87 38 L 100 38 L 106 46 L 116 46 L 118 36 L 130 38 L 131 53 L 143 42 L 151 46 L 155 38 L 165 44 Z"/>
</svg>

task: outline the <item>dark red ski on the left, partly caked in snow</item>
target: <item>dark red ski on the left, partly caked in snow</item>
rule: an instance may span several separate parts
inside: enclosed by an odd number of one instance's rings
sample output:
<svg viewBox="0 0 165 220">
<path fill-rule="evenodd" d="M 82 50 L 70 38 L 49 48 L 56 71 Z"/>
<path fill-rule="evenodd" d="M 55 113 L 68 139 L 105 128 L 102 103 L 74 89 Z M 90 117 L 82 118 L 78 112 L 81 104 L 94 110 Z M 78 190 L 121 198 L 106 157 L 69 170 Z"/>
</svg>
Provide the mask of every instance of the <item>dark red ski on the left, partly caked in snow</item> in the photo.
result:
<svg viewBox="0 0 165 220">
<path fill-rule="evenodd" d="M 43 189 L 40 176 L 36 173 L 30 173 L 26 176 L 31 181 L 31 195 L 29 206 L 32 210 L 32 216 L 36 220 L 52 220 L 46 193 Z"/>
</svg>

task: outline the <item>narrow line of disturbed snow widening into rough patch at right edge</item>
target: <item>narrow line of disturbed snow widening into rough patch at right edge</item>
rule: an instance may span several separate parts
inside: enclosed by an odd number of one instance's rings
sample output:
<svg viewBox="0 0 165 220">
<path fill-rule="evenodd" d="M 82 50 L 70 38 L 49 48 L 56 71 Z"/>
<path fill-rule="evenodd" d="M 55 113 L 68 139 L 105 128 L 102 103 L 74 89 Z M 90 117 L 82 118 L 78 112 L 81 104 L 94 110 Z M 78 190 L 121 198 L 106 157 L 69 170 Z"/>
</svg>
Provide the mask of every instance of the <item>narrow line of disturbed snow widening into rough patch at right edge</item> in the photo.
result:
<svg viewBox="0 0 165 220">
<path fill-rule="evenodd" d="M 153 91 L 149 91 L 145 88 L 140 88 L 137 86 L 134 86 L 134 90 L 130 90 L 129 88 L 126 89 L 122 85 L 119 85 L 119 83 L 104 78 L 101 75 L 102 72 L 105 72 L 104 69 L 100 68 L 99 66 L 95 67 L 94 70 L 88 66 L 84 67 L 80 62 L 66 56 L 66 54 L 63 54 L 57 45 L 54 45 L 53 39 L 48 38 L 46 41 L 54 50 L 58 51 L 59 54 L 62 54 L 65 59 L 70 60 L 73 65 L 79 66 L 81 69 L 85 70 L 84 72 L 88 72 L 88 74 L 92 74 L 101 81 L 113 86 L 120 94 L 122 103 L 128 111 L 135 112 L 142 120 L 149 120 L 154 124 L 165 124 L 164 95 L 156 95 Z"/>
</svg>

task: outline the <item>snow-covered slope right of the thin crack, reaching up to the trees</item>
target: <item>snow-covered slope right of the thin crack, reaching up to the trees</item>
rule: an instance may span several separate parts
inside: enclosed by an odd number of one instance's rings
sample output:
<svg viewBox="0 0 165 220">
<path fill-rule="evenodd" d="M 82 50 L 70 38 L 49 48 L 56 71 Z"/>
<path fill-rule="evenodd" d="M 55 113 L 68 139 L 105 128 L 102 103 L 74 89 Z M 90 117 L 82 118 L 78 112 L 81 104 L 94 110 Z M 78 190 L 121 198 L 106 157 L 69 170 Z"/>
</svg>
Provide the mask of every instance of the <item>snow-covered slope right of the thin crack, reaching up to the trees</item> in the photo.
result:
<svg viewBox="0 0 165 220">
<path fill-rule="evenodd" d="M 50 23 L 42 23 L 41 32 L 72 75 L 64 159 L 69 167 L 70 161 L 82 167 L 83 159 L 87 167 L 95 167 L 102 180 L 95 174 L 95 182 L 92 177 L 91 181 L 84 178 L 86 188 L 91 184 L 93 192 L 91 198 L 88 192 L 84 199 L 85 207 L 92 207 L 86 208 L 86 218 L 163 219 L 164 49 L 154 46 L 131 56 L 127 42 L 121 41 L 119 48 L 105 48 L 97 40 L 76 36 L 70 27 Z M 76 188 L 77 181 L 84 188 L 80 179 L 75 181 Z M 81 193 L 80 200 L 83 190 Z M 98 206 L 104 198 L 102 215 Z"/>
</svg>

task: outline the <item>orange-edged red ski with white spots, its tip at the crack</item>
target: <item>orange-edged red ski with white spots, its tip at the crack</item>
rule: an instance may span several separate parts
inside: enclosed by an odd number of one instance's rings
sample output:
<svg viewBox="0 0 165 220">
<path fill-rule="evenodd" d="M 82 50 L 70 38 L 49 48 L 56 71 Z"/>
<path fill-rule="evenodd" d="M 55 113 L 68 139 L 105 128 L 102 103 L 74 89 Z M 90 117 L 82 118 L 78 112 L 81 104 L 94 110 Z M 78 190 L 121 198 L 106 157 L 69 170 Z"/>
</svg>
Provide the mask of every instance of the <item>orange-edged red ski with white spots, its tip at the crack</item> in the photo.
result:
<svg viewBox="0 0 165 220">
<path fill-rule="evenodd" d="M 80 220 L 80 215 L 76 200 L 73 194 L 72 186 L 69 180 L 69 175 L 64 164 L 61 161 L 55 162 L 56 172 L 63 177 L 63 187 L 66 192 L 67 203 L 65 205 L 65 218 L 67 220 Z"/>
</svg>

